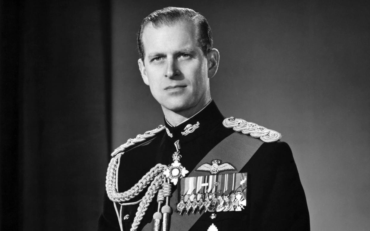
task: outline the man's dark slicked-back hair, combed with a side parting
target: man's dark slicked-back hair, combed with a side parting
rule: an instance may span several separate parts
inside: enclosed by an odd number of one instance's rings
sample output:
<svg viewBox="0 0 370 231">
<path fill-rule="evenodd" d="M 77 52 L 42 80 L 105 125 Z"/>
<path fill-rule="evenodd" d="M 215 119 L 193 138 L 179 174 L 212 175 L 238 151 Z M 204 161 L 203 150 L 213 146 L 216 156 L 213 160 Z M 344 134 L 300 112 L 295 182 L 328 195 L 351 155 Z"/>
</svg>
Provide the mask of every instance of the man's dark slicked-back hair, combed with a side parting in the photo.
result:
<svg viewBox="0 0 370 231">
<path fill-rule="evenodd" d="M 206 18 L 189 8 L 165 7 L 161 10 L 156 10 L 144 18 L 137 33 L 137 42 L 139 55 L 144 62 L 145 51 L 142 43 L 142 32 L 148 23 L 152 23 L 153 27 L 159 28 L 162 25 L 171 25 L 178 21 L 185 20 L 194 23 L 197 28 L 197 42 L 203 54 L 207 56 L 212 49 L 212 31 L 209 27 Z"/>
</svg>

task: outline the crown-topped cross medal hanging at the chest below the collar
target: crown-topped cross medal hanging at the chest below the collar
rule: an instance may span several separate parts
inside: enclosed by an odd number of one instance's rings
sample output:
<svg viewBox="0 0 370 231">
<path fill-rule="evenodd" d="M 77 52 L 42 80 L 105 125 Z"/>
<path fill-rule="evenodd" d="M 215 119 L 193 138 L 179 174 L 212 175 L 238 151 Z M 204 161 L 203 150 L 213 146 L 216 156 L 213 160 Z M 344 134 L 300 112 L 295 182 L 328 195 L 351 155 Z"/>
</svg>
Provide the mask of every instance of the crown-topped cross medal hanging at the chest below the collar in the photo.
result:
<svg viewBox="0 0 370 231">
<path fill-rule="evenodd" d="M 176 152 L 174 152 L 174 154 L 172 154 L 173 163 L 168 165 L 168 168 L 166 168 L 164 170 L 163 174 L 168 179 L 170 179 L 170 181 L 172 183 L 174 183 L 174 185 L 176 185 L 177 182 L 178 182 L 178 179 L 181 179 L 182 177 L 184 177 L 186 175 L 186 173 L 188 173 L 189 171 L 186 170 L 185 167 L 182 166 L 181 163 L 179 162 L 181 157 L 182 157 L 179 154 L 180 153 L 180 151 L 179 151 L 179 149 L 180 149 L 179 140 L 177 140 L 174 144 L 175 144 L 175 147 L 176 147 Z"/>
</svg>

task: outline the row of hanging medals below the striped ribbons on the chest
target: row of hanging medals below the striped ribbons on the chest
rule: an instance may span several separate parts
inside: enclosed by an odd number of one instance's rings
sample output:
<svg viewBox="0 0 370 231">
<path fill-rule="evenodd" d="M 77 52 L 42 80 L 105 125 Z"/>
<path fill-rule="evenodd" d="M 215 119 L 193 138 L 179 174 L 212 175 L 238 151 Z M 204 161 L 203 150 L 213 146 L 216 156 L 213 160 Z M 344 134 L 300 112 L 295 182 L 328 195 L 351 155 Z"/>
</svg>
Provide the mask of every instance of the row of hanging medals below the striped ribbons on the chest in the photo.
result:
<svg viewBox="0 0 370 231">
<path fill-rule="evenodd" d="M 181 201 L 177 204 L 177 210 L 180 212 L 189 211 L 198 213 L 203 211 L 221 212 L 221 211 L 241 211 L 246 206 L 246 200 L 241 192 L 231 193 L 230 195 L 218 195 L 216 193 L 198 193 L 187 195 L 188 200 L 184 201 L 184 196 L 181 196 Z M 196 199 L 195 199 L 196 198 Z"/>
</svg>

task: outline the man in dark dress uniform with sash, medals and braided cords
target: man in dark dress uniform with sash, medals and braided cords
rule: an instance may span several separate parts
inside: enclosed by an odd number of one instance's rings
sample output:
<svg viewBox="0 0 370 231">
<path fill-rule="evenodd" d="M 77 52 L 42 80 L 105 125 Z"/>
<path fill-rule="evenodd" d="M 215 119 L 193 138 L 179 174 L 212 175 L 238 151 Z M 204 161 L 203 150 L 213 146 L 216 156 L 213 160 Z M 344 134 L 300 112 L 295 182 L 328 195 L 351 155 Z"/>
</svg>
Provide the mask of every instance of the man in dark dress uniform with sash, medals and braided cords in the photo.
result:
<svg viewBox="0 0 370 231">
<path fill-rule="evenodd" d="M 155 11 L 138 48 L 165 126 L 112 153 L 98 230 L 309 230 L 289 146 L 275 131 L 225 119 L 211 99 L 219 52 L 206 19 L 187 8 Z"/>
</svg>

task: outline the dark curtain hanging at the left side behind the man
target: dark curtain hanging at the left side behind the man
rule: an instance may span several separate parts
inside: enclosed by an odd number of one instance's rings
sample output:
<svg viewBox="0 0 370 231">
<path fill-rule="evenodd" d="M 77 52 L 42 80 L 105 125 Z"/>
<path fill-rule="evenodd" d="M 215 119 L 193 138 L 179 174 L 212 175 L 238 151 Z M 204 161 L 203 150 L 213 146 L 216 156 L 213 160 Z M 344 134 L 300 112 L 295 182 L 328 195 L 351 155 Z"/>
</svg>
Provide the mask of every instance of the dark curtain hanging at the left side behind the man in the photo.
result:
<svg viewBox="0 0 370 231">
<path fill-rule="evenodd" d="M 95 230 L 110 150 L 110 4 L 1 1 L 1 230 Z"/>
</svg>

